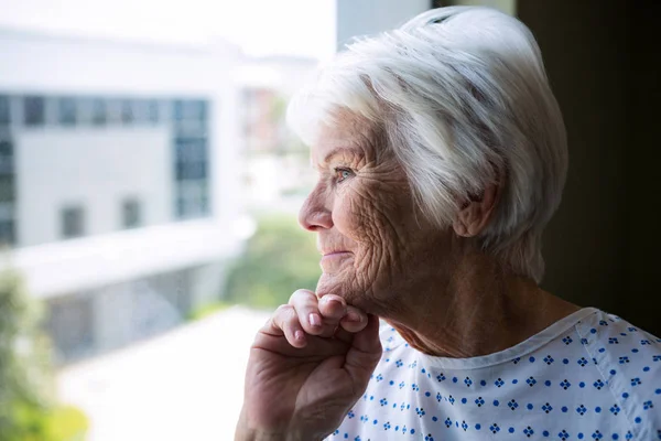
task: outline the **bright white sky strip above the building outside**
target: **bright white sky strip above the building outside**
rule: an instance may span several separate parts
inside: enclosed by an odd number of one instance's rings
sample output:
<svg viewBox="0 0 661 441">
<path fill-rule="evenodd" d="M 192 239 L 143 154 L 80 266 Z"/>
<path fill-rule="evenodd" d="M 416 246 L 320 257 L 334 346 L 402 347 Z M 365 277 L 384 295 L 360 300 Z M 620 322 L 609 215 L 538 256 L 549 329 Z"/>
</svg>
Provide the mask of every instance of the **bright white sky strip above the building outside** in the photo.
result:
<svg viewBox="0 0 661 441">
<path fill-rule="evenodd" d="M 0 0 L 0 28 L 198 43 L 221 37 L 248 55 L 325 58 L 335 0 Z"/>
</svg>

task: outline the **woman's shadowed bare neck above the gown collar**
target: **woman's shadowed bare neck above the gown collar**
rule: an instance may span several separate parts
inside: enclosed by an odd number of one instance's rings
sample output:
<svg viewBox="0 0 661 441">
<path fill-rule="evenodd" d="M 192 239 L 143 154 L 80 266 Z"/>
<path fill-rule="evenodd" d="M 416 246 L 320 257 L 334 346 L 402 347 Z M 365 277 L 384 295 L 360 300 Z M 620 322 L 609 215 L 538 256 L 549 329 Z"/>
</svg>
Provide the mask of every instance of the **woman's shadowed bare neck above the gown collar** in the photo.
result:
<svg viewBox="0 0 661 441">
<path fill-rule="evenodd" d="M 492 354 L 523 342 L 578 306 L 508 273 L 483 254 L 465 257 L 441 281 L 418 278 L 404 308 L 381 314 L 418 351 L 455 358 Z"/>
</svg>

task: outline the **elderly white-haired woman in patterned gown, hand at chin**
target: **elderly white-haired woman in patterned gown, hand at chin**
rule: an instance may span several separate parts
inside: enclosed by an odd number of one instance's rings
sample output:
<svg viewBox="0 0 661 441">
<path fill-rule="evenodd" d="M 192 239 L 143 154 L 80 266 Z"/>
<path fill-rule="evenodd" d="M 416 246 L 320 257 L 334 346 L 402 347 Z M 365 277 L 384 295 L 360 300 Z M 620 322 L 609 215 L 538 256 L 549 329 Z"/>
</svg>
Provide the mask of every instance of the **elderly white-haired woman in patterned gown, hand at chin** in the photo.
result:
<svg viewBox="0 0 661 441">
<path fill-rule="evenodd" d="M 289 117 L 323 273 L 258 333 L 237 440 L 661 439 L 661 341 L 538 286 L 567 149 L 523 24 L 429 11 Z"/>
</svg>

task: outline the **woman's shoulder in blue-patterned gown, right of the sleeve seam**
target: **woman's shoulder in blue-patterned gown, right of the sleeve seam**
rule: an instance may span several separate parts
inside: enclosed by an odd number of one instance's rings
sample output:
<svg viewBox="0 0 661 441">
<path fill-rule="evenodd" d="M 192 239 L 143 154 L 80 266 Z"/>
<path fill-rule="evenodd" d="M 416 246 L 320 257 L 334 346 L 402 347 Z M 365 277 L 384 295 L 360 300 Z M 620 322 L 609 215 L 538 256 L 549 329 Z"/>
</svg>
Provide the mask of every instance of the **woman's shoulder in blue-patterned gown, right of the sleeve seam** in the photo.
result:
<svg viewBox="0 0 661 441">
<path fill-rule="evenodd" d="M 603 311 L 576 332 L 640 439 L 661 437 L 661 338 Z"/>
</svg>

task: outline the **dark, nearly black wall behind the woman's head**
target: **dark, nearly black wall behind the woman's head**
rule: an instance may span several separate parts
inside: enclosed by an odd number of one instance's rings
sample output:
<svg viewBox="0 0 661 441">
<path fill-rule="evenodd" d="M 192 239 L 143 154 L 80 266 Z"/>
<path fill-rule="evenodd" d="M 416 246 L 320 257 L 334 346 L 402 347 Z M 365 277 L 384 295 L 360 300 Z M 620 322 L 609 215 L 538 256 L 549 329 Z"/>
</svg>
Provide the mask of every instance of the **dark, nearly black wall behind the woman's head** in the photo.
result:
<svg viewBox="0 0 661 441">
<path fill-rule="evenodd" d="M 652 11 L 651 9 L 654 9 Z M 544 288 L 661 334 L 654 2 L 519 0 L 562 108 L 570 173 Z M 657 98 L 653 98 L 655 95 Z"/>
</svg>

